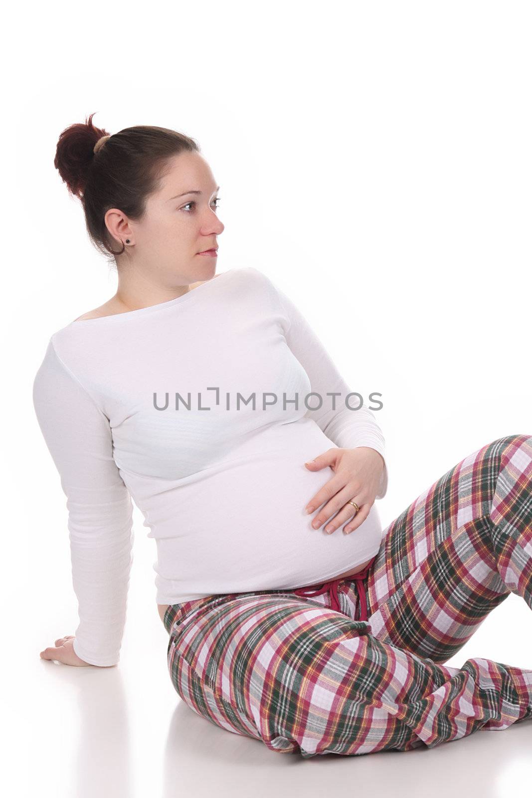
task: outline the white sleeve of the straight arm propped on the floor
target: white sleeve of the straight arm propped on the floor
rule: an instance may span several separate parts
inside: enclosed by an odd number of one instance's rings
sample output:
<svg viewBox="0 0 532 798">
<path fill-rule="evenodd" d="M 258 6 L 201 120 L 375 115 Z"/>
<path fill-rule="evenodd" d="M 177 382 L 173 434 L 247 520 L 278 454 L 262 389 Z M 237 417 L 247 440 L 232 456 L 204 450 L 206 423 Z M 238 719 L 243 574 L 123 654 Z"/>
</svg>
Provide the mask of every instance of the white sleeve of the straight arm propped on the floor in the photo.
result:
<svg viewBox="0 0 532 798">
<path fill-rule="evenodd" d="M 53 339 L 33 381 L 33 407 L 67 498 L 79 613 L 73 648 L 91 665 L 116 665 L 132 566 L 132 500 L 112 458 L 108 418 Z"/>
</svg>

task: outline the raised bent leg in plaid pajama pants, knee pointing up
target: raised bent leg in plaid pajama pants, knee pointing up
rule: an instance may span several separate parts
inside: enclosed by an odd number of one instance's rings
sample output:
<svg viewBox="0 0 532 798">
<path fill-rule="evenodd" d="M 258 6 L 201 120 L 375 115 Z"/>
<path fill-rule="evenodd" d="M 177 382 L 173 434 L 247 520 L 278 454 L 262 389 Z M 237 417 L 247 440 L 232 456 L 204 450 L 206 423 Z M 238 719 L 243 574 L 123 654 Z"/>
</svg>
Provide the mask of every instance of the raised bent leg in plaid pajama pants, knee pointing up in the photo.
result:
<svg viewBox="0 0 532 798">
<path fill-rule="evenodd" d="M 532 437 L 492 441 L 412 502 L 366 591 L 375 637 L 441 663 L 510 593 L 532 609 Z"/>
</svg>

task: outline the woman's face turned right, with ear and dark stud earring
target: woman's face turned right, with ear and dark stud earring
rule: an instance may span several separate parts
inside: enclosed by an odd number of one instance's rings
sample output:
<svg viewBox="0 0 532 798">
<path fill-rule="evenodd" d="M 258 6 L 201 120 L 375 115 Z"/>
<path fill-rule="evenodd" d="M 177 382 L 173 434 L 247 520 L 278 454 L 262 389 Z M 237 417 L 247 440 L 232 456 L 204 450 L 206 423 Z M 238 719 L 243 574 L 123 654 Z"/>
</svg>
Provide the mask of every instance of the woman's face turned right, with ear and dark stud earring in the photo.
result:
<svg viewBox="0 0 532 798">
<path fill-rule="evenodd" d="M 125 245 L 128 257 L 120 259 L 128 271 L 142 270 L 150 281 L 168 287 L 211 279 L 217 258 L 198 253 L 218 247 L 224 229 L 216 210 L 218 188 L 203 156 L 182 152 L 171 160 L 159 191 L 148 197 L 144 219 L 136 222 L 122 214 L 120 221 L 108 211 L 108 223 L 116 223 L 112 234 L 132 243 Z"/>
</svg>

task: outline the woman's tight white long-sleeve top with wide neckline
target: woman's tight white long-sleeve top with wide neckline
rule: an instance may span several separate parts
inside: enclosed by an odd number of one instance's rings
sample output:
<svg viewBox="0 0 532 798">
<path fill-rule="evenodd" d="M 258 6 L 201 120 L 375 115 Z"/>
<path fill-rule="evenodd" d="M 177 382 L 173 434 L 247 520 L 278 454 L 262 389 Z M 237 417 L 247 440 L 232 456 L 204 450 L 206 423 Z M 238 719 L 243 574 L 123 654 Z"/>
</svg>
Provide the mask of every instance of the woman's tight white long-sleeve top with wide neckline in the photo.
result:
<svg viewBox="0 0 532 798">
<path fill-rule="evenodd" d="M 385 459 L 373 413 L 349 393 L 294 303 L 253 267 L 54 333 L 33 405 L 67 497 L 76 654 L 119 661 L 132 500 L 156 539 L 159 604 L 312 585 L 375 555 L 375 504 L 351 535 L 314 530 L 317 510 L 305 513 L 333 476 L 305 461 L 357 446 Z M 376 498 L 387 487 L 385 464 Z"/>
</svg>

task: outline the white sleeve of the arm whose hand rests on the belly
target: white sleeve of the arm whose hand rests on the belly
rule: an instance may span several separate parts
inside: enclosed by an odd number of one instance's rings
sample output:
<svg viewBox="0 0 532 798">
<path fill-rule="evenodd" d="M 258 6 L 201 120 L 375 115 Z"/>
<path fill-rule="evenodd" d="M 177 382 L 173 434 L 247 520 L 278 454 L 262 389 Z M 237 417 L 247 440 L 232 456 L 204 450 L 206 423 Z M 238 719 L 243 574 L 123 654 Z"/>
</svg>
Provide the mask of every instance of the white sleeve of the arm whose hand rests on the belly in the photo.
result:
<svg viewBox="0 0 532 798">
<path fill-rule="evenodd" d="M 274 286 L 273 283 L 271 285 Z M 286 342 L 305 369 L 311 390 L 318 393 L 322 399 L 321 407 L 307 410 L 305 417 L 312 418 L 329 440 L 340 448 L 368 446 L 379 452 L 384 460 L 384 468 L 376 499 L 384 499 L 388 491 L 388 464 L 384 436 L 376 423 L 375 416 L 364 404 L 354 409 L 360 404 L 359 397 L 349 397 L 349 407 L 346 406 L 345 397 L 353 391 L 349 389 L 349 385 L 339 373 L 317 334 L 294 302 L 277 286 L 274 286 L 274 289 L 288 322 Z M 340 395 L 329 396 L 329 393 Z M 316 404 L 317 397 L 312 397 L 310 402 Z"/>
</svg>

